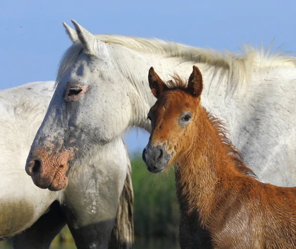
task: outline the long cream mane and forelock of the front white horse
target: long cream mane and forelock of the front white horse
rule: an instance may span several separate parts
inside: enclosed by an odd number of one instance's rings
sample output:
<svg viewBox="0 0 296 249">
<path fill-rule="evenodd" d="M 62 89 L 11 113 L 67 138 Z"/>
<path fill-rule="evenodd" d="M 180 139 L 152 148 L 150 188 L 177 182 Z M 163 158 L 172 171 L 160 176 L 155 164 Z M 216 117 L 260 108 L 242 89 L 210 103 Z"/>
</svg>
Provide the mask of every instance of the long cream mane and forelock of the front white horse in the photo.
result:
<svg viewBox="0 0 296 249">
<path fill-rule="evenodd" d="M 96 34 L 95 37 L 105 43 L 120 45 L 141 53 L 176 57 L 184 61 L 214 66 L 215 70 L 219 70 L 221 78 L 227 76 L 229 82 L 232 79 L 232 84 L 237 85 L 242 82 L 250 83 L 255 69 L 277 66 L 296 67 L 296 57 L 282 51 L 281 48 L 271 53 L 272 43 L 266 52 L 264 52 L 263 45 L 256 48 L 243 44 L 243 49 L 239 54 L 227 50 L 222 53 L 211 48 L 192 47 L 155 38 L 111 34 Z M 76 60 L 82 49 L 83 46 L 78 40 L 66 51 L 59 65 L 56 84 L 65 70 Z M 229 90 L 234 90 L 236 87 L 229 86 Z"/>
</svg>

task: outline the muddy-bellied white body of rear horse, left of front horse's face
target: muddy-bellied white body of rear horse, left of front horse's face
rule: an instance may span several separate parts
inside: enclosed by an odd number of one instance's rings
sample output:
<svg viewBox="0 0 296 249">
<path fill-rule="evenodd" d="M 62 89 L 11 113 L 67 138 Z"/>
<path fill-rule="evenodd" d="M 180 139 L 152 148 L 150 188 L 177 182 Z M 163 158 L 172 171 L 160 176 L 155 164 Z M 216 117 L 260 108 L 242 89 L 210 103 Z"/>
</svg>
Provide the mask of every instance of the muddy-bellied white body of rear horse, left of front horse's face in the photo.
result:
<svg viewBox="0 0 296 249">
<path fill-rule="evenodd" d="M 54 82 L 25 84 L 0 91 L 0 237 L 30 227 L 61 193 L 37 188 L 24 165 L 47 109 Z M 33 92 L 36 91 L 36 92 Z"/>
</svg>

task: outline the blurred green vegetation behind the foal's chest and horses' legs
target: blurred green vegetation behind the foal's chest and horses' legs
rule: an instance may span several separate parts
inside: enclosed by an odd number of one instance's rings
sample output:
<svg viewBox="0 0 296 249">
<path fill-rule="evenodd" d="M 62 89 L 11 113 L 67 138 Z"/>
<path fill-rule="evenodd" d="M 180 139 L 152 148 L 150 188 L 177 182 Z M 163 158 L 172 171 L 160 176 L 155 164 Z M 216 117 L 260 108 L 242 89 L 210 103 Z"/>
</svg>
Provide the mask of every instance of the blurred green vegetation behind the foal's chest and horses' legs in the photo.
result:
<svg viewBox="0 0 296 249">
<path fill-rule="evenodd" d="M 131 156 L 132 182 L 134 188 L 134 222 L 135 235 L 139 237 L 167 237 L 170 246 L 166 247 L 161 239 L 151 239 L 149 248 L 174 248 L 176 245 L 179 228 L 179 206 L 175 194 L 174 172 L 151 174 L 148 172 L 141 156 Z M 56 249 L 61 243 L 67 243 L 67 248 L 75 248 L 68 227 L 65 227 L 52 243 L 52 249 Z M 143 248 L 141 243 L 146 240 L 138 240 L 136 248 Z M 156 247 L 156 244 L 157 247 Z M 138 247 L 137 247 L 138 245 Z M 160 246 L 163 245 L 163 246 Z M 160 247 L 158 247 L 160 246 Z M 0 242 L 0 249 L 10 249 L 9 242 Z M 61 247 L 58 246 L 60 249 Z M 179 248 L 178 243 L 176 248 Z"/>
</svg>

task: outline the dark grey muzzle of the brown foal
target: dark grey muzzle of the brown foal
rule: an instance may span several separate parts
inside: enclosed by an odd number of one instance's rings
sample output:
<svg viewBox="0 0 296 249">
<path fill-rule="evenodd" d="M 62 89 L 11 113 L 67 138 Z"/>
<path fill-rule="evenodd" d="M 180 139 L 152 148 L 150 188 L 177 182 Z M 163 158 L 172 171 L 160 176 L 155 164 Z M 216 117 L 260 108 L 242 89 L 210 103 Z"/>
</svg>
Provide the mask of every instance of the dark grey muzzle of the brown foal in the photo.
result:
<svg viewBox="0 0 296 249">
<path fill-rule="evenodd" d="M 165 151 L 163 146 L 147 146 L 143 150 L 142 158 L 146 163 L 148 171 L 159 173 L 168 165 L 170 155 Z"/>
</svg>

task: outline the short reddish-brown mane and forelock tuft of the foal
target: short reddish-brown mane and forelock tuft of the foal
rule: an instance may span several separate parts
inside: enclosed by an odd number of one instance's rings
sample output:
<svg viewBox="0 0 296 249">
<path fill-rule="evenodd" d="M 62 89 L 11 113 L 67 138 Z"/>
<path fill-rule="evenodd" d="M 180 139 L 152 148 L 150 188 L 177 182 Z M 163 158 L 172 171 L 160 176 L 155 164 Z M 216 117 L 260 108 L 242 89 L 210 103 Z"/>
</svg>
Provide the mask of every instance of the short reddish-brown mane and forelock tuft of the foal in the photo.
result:
<svg viewBox="0 0 296 249">
<path fill-rule="evenodd" d="M 186 91 L 187 83 L 186 80 L 183 80 L 177 73 L 171 75 L 173 80 L 169 80 L 166 85 L 169 87 L 170 90 L 181 90 Z M 224 149 L 227 151 L 227 155 L 230 159 L 234 162 L 235 168 L 238 169 L 245 175 L 258 178 L 252 169 L 248 168 L 243 161 L 243 156 L 241 153 L 235 148 L 235 146 L 231 143 L 230 139 L 227 138 L 226 133 L 229 132 L 226 130 L 222 121 L 208 112 L 204 107 L 202 107 L 206 113 L 208 120 L 210 121 L 211 125 L 215 128 L 216 134 L 220 137 L 221 142 L 223 144 Z"/>
</svg>

